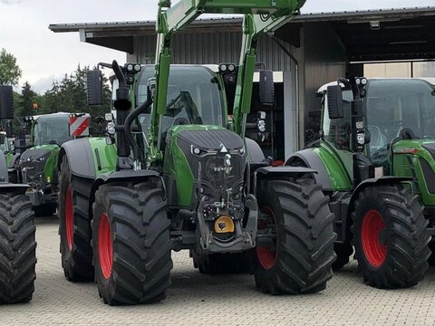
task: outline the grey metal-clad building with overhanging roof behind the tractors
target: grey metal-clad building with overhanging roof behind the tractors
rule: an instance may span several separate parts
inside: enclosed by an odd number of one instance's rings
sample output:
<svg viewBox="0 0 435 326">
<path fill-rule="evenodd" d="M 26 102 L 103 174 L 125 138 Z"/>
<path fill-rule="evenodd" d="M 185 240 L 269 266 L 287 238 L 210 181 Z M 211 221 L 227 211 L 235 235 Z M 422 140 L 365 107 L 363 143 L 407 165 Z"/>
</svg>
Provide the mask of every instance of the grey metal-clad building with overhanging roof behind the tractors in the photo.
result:
<svg viewBox="0 0 435 326">
<path fill-rule="evenodd" d="M 238 62 L 242 19 L 208 18 L 175 35 L 172 62 Z M 154 63 L 155 23 L 51 24 L 54 33 L 77 32 L 80 40 L 126 53 L 127 62 Z M 301 14 L 263 35 L 257 61 L 275 72 L 276 105 L 266 110 L 270 141 L 285 159 L 317 133 L 316 90 L 349 74 L 367 77 L 435 76 L 435 7 Z"/>
</svg>

